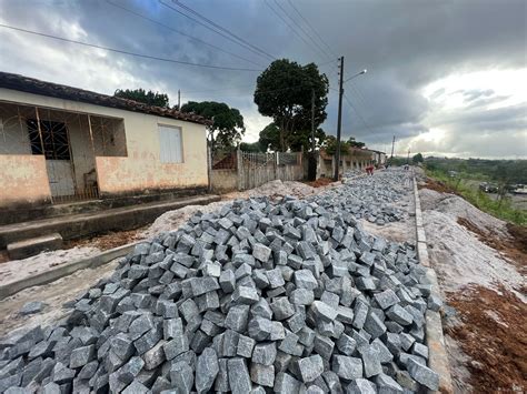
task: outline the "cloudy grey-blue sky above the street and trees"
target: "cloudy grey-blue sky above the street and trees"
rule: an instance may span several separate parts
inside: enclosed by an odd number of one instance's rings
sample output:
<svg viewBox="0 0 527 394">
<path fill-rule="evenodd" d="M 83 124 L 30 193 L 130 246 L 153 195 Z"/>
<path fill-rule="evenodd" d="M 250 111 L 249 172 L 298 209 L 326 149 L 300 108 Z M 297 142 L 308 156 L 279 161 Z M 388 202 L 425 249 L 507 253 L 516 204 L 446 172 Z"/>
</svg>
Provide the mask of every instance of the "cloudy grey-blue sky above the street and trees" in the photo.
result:
<svg viewBox="0 0 527 394">
<path fill-rule="evenodd" d="M 428 155 L 527 159 L 526 4 L 0 0 L 1 24 L 151 57 L 245 69 L 137 58 L 0 27 L 0 70 L 108 94 L 141 87 L 167 92 L 171 104 L 177 103 L 178 89 L 182 102 L 225 101 L 241 110 L 245 140 L 255 141 L 270 122 L 252 102 L 255 81 L 258 70 L 279 58 L 316 62 L 328 75 L 324 129 L 335 134 L 337 58 L 344 55 L 345 78 L 368 69 L 345 85 L 345 138 L 354 135 L 389 152 L 395 135 L 399 154 L 410 149 Z M 216 31 L 198 24 L 203 19 L 192 12 L 216 23 Z M 242 44 L 232 42 L 229 33 Z"/>
</svg>

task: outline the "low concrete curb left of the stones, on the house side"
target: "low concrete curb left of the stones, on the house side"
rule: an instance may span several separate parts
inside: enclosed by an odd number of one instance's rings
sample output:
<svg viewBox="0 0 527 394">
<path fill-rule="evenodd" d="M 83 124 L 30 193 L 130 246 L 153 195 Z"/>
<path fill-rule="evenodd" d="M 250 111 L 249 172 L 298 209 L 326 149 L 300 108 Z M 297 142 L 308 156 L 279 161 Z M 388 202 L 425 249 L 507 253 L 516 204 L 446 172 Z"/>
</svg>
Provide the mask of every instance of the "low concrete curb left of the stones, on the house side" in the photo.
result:
<svg viewBox="0 0 527 394">
<path fill-rule="evenodd" d="M 51 270 L 40 272 L 29 277 L 24 277 L 18 281 L 13 281 L 10 283 L 1 284 L 0 285 L 0 300 L 3 300 L 10 295 L 18 293 L 21 290 L 32 287 L 32 286 L 41 286 L 47 283 L 51 283 L 57 281 L 60 277 L 71 275 L 76 271 L 84 270 L 84 269 L 95 269 L 99 265 L 107 264 L 112 260 L 118 257 L 126 256 L 130 253 L 136 245 L 141 242 L 129 243 L 122 246 L 113 247 L 97 255 L 77 260 L 70 263 L 66 263 L 59 266 L 56 266 Z"/>
</svg>

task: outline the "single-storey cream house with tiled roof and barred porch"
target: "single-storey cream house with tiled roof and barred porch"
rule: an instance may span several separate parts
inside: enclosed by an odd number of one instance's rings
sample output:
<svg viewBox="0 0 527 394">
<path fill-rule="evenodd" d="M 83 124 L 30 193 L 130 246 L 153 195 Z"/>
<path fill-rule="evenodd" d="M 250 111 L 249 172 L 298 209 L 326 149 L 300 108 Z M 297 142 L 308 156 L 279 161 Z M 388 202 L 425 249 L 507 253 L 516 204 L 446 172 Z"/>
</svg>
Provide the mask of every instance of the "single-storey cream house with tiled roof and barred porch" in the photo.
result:
<svg viewBox="0 0 527 394">
<path fill-rule="evenodd" d="M 0 209 L 208 186 L 207 121 L 0 72 Z"/>
</svg>

